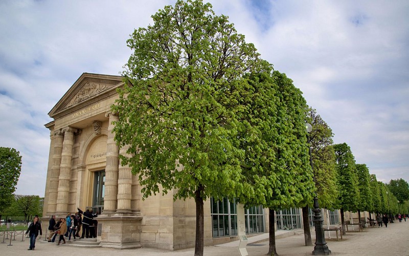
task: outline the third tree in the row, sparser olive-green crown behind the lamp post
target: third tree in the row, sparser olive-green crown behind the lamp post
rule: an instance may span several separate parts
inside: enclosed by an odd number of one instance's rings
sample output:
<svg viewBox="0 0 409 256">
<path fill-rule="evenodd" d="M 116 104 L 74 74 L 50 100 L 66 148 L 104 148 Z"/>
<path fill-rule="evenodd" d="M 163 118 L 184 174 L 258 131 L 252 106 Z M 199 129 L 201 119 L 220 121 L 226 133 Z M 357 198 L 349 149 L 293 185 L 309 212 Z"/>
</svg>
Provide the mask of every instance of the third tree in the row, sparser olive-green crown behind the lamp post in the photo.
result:
<svg viewBox="0 0 409 256">
<path fill-rule="evenodd" d="M 332 130 L 328 124 L 317 115 L 316 110 L 309 108 L 306 122 L 311 124 L 312 131 L 308 134 L 311 145 L 315 187 L 319 205 L 332 209 L 338 197 L 336 186 L 335 153 L 332 147 Z M 309 207 L 312 201 L 304 201 L 302 205 L 305 245 L 311 246 L 311 231 L 309 224 Z"/>
</svg>

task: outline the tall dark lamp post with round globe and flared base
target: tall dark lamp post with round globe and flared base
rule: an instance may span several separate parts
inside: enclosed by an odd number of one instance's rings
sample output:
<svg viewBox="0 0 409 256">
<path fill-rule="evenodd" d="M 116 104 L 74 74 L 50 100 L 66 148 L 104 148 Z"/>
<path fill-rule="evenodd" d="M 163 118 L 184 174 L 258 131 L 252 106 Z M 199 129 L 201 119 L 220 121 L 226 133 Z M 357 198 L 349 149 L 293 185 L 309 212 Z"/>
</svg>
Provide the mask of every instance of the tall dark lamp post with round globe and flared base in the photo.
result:
<svg viewBox="0 0 409 256">
<path fill-rule="evenodd" d="M 312 126 L 309 123 L 305 124 L 305 129 L 307 130 L 307 133 L 310 133 L 312 131 Z M 312 165 L 312 156 L 311 156 L 311 145 L 310 145 L 310 136 L 307 135 L 307 140 L 308 140 L 308 153 L 310 155 L 310 165 L 311 169 L 313 169 Z M 314 184 L 316 182 L 314 172 L 312 172 L 313 179 L 314 179 Z M 314 250 L 312 251 L 313 255 L 329 255 L 331 254 L 330 249 L 328 249 L 327 243 L 325 242 L 325 237 L 324 237 L 324 230 L 323 230 L 323 217 L 321 215 L 321 209 L 318 205 L 318 198 L 317 194 L 315 193 L 314 196 L 314 226 L 315 226 L 315 246 Z"/>
</svg>

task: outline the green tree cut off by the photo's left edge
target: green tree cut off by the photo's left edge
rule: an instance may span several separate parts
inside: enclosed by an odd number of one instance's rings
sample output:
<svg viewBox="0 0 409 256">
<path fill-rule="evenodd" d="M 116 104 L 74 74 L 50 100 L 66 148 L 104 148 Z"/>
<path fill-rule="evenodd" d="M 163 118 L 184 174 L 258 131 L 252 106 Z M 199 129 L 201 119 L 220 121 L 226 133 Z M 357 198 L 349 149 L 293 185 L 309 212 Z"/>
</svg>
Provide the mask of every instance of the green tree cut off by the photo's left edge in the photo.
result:
<svg viewBox="0 0 409 256">
<path fill-rule="evenodd" d="M 21 172 L 21 156 L 10 147 L 0 147 L 0 220 L 12 203 L 13 193 Z"/>
</svg>

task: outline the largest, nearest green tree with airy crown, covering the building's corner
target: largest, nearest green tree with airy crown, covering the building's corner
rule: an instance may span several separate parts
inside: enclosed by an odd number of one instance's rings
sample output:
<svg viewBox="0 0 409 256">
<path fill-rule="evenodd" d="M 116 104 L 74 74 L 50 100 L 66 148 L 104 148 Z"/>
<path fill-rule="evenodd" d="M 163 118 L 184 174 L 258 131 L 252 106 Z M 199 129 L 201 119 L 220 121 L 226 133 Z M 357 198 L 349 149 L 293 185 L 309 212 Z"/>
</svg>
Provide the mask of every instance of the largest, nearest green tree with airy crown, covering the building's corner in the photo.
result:
<svg viewBox="0 0 409 256">
<path fill-rule="evenodd" d="M 242 75 L 260 68 L 259 54 L 228 17 L 210 4 L 177 1 L 135 30 L 112 111 L 124 164 L 139 175 L 143 197 L 168 193 L 196 202 L 195 255 L 203 254 L 203 200 L 238 197 L 244 151 L 238 147 L 237 98 Z"/>
</svg>

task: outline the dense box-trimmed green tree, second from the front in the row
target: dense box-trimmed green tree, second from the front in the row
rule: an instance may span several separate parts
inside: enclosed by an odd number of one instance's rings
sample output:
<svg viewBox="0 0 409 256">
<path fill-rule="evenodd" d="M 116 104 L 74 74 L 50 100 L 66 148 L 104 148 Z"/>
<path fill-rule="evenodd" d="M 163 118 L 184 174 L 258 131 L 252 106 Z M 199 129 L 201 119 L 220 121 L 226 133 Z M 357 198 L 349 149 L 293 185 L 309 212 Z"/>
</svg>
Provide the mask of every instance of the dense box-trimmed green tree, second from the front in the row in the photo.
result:
<svg viewBox="0 0 409 256">
<path fill-rule="evenodd" d="M 277 255 L 275 211 L 312 201 L 315 189 L 304 126 L 306 102 L 278 71 L 249 75 L 245 91 L 238 138 L 245 150 L 243 181 L 249 182 L 252 197 L 242 194 L 239 201 L 269 208 L 268 254 Z"/>
</svg>

